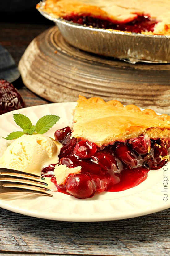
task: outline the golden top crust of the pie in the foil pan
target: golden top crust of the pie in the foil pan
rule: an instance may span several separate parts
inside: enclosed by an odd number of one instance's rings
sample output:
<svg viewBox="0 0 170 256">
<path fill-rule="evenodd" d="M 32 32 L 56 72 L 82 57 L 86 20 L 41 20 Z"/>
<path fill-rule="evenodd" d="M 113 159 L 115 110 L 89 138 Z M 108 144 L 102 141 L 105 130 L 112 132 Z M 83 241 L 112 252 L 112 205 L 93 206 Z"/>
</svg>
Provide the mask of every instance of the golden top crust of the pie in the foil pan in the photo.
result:
<svg viewBox="0 0 170 256">
<path fill-rule="evenodd" d="M 151 19 L 156 19 L 158 24 L 155 25 L 153 32 L 142 34 L 170 34 L 169 0 L 46 0 L 44 11 L 56 18 L 87 15 L 107 19 L 113 23 L 127 23 L 138 15 L 147 15 Z"/>
</svg>

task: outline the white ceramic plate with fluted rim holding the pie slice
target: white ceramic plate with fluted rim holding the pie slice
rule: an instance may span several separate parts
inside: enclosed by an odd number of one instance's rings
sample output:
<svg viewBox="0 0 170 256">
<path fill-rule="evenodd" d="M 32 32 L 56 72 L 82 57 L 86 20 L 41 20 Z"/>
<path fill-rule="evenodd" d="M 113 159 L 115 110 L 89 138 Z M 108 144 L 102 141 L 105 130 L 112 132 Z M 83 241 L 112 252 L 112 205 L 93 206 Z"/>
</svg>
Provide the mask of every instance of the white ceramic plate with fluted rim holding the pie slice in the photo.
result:
<svg viewBox="0 0 170 256">
<path fill-rule="evenodd" d="M 56 129 L 71 125 L 71 112 L 75 105 L 74 102 L 52 103 L 0 115 L 0 135 L 6 137 L 10 132 L 19 130 L 13 120 L 14 113 L 28 116 L 33 124 L 43 115 L 55 114 L 61 118 L 46 133 L 46 135 L 53 137 Z M 0 137 L 0 156 L 7 146 L 6 140 L 2 137 Z M 164 183 L 165 180 L 168 181 Z M 165 190 L 166 192 L 164 192 Z M 170 163 L 159 170 L 149 171 L 144 182 L 125 191 L 103 192 L 88 199 L 76 199 L 59 192 L 53 192 L 53 197 L 8 196 L 5 199 L 0 199 L 0 207 L 16 213 L 51 220 L 108 221 L 133 218 L 167 209 L 170 207 L 170 198 L 167 197 L 169 192 Z M 165 201 L 166 199 L 167 201 Z"/>
</svg>

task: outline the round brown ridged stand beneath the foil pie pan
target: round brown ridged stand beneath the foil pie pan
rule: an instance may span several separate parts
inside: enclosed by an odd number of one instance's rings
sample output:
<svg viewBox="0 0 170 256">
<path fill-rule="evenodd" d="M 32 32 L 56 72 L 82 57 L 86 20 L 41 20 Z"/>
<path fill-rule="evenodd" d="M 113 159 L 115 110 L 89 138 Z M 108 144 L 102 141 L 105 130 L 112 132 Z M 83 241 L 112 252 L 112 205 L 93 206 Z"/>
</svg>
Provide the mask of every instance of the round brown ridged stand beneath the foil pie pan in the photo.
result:
<svg viewBox="0 0 170 256">
<path fill-rule="evenodd" d="M 52 102 L 78 95 L 170 114 L 170 64 L 130 64 L 70 46 L 54 26 L 27 47 L 19 62 L 23 83 Z"/>
</svg>

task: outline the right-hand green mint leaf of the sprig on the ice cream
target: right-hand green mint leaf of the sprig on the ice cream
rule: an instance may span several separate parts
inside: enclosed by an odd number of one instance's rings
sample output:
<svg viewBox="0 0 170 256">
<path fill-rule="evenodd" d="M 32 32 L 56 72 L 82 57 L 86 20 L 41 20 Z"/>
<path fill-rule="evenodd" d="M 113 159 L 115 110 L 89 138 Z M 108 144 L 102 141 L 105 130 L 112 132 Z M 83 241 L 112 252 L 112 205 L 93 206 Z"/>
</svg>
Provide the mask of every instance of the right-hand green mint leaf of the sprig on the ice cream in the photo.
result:
<svg viewBox="0 0 170 256">
<path fill-rule="evenodd" d="M 45 115 L 41 117 L 36 123 L 36 132 L 39 134 L 44 134 L 47 132 L 54 124 L 60 119 L 57 115 Z"/>
</svg>

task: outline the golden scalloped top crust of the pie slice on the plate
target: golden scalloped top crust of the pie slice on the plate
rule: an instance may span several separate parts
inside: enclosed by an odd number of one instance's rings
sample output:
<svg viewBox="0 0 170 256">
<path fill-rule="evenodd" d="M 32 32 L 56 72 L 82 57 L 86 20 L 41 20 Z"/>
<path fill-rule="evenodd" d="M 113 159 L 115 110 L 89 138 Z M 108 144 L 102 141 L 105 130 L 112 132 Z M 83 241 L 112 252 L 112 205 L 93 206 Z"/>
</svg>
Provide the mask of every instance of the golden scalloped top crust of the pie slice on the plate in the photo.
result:
<svg viewBox="0 0 170 256">
<path fill-rule="evenodd" d="M 170 138 L 170 116 L 151 109 L 123 106 L 119 101 L 79 96 L 73 114 L 72 137 L 94 142 L 99 147 L 148 134 L 151 139 Z"/>
</svg>

